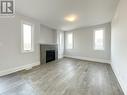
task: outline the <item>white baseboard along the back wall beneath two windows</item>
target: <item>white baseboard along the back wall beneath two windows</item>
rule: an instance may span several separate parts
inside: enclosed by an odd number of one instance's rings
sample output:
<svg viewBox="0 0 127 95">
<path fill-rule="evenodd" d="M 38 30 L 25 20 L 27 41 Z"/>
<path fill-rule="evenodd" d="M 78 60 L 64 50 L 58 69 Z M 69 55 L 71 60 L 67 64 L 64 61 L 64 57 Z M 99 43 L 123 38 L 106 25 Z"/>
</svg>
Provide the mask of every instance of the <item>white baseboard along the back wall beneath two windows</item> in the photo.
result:
<svg viewBox="0 0 127 95">
<path fill-rule="evenodd" d="M 81 60 L 88 60 L 88 61 L 94 61 L 94 62 L 100 62 L 100 63 L 108 63 L 108 64 L 111 63 L 110 60 L 97 59 L 97 58 L 80 57 L 80 56 L 69 56 L 69 55 L 64 55 L 64 57 L 75 58 L 75 59 L 81 59 Z"/>
</svg>

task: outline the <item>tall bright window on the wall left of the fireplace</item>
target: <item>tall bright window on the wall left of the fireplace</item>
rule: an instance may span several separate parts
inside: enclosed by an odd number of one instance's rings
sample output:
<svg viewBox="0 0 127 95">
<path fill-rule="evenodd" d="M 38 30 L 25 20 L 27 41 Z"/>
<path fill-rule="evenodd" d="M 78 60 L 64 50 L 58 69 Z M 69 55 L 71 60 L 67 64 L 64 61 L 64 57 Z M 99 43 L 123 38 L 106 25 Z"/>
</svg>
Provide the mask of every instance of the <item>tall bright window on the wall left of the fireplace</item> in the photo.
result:
<svg viewBox="0 0 127 95">
<path fill-rule="evenodd" d="M 33 48 L 34 25 L 22 22 L 22 52 L 32 52 Z"/>
</svg>

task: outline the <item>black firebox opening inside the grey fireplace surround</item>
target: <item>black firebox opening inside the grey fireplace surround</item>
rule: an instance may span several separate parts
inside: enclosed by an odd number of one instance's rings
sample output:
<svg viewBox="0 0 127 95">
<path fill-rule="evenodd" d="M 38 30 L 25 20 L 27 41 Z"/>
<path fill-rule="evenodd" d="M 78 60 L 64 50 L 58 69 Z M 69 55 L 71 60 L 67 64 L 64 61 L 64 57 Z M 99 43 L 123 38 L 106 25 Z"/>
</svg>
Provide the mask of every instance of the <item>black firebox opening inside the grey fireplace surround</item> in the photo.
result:
<svg viewBox="0 0 127 95">
<path fill-rule="evenodd" d="M 55 60 L 55 50 L 46 51 L 46 63 Z"/>
</svg>

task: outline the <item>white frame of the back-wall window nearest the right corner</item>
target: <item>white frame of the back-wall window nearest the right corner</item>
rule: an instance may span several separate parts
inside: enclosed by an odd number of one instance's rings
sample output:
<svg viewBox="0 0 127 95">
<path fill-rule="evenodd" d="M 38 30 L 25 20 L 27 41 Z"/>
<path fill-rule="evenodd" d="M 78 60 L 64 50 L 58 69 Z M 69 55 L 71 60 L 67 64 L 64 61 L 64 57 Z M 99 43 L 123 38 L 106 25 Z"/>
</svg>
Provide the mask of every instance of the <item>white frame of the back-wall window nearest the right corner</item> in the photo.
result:
<svg viewBox="0 0 127 95">
<path fill-rule="evenodd" d="M 102 49 L 96 49 L 96 44 L 95 44 L 95 32 L 98 31 L 98 30 L 104 30 L 103 31 L 103 48 Z M 105 50 L 105 28 L 97 28 L 94 30 L 94 33 L 93 33 L 93 48 L 94 50 L 96 51 L 104 51 Z"/>
</svg>

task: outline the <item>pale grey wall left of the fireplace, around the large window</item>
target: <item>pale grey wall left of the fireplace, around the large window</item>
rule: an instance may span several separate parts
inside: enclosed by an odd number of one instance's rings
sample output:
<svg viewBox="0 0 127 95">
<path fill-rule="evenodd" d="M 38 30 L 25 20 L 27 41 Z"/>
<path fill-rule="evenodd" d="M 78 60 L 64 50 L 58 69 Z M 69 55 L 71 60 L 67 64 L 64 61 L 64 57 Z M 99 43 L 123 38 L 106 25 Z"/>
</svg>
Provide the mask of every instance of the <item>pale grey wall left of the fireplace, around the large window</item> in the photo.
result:
<svg viewBox="0 0 127 95">
<path fill-rule="evenodd" d="M 21 21 L 35 25 L 34 52 L 21 52 Z M 0 75 L 38 63 L 40 24 L 28 17 L 0 18 Z"/>
</svg>

